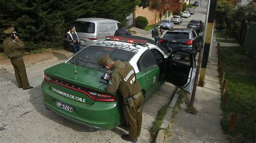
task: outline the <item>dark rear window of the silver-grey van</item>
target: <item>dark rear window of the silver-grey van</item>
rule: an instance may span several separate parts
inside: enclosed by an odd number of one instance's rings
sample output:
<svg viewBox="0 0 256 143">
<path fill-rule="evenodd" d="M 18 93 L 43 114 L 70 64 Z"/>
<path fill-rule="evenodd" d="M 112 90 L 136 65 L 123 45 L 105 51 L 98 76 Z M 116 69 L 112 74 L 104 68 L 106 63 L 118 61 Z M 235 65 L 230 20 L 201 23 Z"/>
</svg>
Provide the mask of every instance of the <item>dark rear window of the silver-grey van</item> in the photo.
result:
<svg viewBox="0 0 256 143">
<path fill-rule="evenodd" d="M 95 23 L 90 22 L 75 22 L 77 32 L 81 33 L 95 33 Z"/>
</svg>

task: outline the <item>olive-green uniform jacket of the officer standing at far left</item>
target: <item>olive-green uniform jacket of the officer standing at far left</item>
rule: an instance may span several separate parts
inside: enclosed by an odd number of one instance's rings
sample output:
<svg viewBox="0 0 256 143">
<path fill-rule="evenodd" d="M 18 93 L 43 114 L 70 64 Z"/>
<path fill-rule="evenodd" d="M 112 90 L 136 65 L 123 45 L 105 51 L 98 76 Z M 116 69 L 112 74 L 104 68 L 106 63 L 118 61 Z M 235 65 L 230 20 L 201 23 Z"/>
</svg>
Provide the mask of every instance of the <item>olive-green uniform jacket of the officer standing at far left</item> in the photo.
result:
<svg viewBox="0 0 256 143">
<path fill-rule="evenodd" d="M 4 53 L 9 59 L 22 58 L 24 44 L 21 40 L 15 41 L 11 37 L 6 37 L 3 42 Z"/>
</svg>

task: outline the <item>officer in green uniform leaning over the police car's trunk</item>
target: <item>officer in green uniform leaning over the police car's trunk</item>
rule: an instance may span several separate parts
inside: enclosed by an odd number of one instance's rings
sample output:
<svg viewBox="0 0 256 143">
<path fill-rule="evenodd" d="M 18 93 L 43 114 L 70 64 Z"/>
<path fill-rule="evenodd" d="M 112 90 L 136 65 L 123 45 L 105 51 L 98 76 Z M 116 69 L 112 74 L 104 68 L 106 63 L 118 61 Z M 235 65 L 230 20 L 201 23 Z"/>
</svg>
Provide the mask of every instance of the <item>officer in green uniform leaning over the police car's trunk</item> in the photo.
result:
<svg viewBox="0 0 256 143">
<path fill-rule="evenodd" d="M 129 134 L 122 135 L 126 141 L 136 142 L 142 127 L 143 95 L 133 67 L 128 62 L 117 60 L 114 62 L 108 54 L 98 60 L 98 65 L 110 69 L 107 92 L 119 92 L 123 97 L 123 111 L 125 121 L 130 128 Z"/>
</svg>

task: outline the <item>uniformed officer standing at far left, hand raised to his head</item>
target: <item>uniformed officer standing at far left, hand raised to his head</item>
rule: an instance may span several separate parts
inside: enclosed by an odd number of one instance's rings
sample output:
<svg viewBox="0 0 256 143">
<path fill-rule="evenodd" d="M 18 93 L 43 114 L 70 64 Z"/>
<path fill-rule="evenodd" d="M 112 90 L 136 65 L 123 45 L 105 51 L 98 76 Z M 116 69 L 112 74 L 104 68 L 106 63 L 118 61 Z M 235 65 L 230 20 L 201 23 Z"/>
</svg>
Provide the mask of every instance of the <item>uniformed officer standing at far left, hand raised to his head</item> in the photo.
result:
<svg viewBox="0 0 256 143">
<path fill-rule="evenodd" d="M 26 75 L 26 68 L 23 61 L 23 52 L 24 44 L 19 38 L 15 35 L 14 27 L 10 27 L 4 31 L 6 39 L 3 41 L 4 53 L 11 60 L 12 66 L 14 66 L 14 72 L 18 88 L 31 89 Z"/>
</svg>

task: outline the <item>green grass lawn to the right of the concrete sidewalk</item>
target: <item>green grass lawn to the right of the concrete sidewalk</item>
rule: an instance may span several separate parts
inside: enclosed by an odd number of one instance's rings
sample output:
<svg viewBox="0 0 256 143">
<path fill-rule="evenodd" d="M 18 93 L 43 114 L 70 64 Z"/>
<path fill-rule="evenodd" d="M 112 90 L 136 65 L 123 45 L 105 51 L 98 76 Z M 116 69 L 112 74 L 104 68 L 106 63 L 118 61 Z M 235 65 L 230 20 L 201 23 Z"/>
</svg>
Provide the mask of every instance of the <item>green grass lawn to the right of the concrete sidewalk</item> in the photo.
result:
<svg viewBox="0 0 256 143">
<path fill-rule="evenodd" d="M 228 80 L 228 103 L 221 96 L 221 125 L 231 142 L 256 141 L 256 58 L 242 47 L 221 47 L 221 62 Z M 237 115 L 233 132 L 228 130 L 232 113 Z"/>
</svg>

